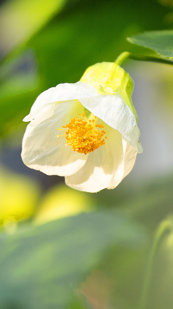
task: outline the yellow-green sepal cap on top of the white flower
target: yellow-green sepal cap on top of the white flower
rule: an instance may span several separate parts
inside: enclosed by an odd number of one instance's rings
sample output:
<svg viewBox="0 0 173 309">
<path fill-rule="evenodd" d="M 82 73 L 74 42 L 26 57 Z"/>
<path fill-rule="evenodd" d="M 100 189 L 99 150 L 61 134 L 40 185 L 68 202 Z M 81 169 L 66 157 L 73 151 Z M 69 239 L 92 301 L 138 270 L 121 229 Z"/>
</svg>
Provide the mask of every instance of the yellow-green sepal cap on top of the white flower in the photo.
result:
<svg viewBox="0 0 173 309">
<path fill-rule="evenodd" d="M 133 80 L 123 68 L 115 62 L 101 62 L 89 66 L 82 75 L 80 82 L 89 83 L 103 95 L 119 94 L 138 119 L 136 110 L 131 101 Z"/>
</svg>

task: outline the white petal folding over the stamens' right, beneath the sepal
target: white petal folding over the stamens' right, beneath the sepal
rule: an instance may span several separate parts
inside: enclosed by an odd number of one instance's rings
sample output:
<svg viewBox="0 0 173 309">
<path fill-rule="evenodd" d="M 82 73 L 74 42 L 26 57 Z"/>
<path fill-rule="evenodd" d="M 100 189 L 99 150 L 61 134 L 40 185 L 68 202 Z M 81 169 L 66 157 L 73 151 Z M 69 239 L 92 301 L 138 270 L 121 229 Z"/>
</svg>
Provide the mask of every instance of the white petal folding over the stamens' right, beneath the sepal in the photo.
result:
<svg viewBox="0 0 173 309">
<path fill-rule="evenodd" d="M 131 109 L 118 95 L 98 95 L 93 98 L 79 99 L 81 104 L 95 116 L 113 129 L 118 130 L 125 141 L 129 142 L 136 152 L 143 152 L 139 143 L 140 131 Z"/>
</svg>

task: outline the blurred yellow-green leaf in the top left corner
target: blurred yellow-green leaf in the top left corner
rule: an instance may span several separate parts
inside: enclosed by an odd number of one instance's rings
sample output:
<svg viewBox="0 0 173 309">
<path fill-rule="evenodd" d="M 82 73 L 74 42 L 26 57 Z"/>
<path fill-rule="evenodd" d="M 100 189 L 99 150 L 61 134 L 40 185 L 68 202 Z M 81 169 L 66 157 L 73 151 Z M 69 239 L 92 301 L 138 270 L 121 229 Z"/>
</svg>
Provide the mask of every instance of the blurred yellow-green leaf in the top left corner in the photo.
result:
<svg viewBox="0 0 173 309">
<path fill-rule="evenodd" d="M 0 11 L 0 50 L 7 53 L 16 44 L 27 41 L 52 15 L 59 11 L 65 0 L 6 1 Z"/>
</svg>

